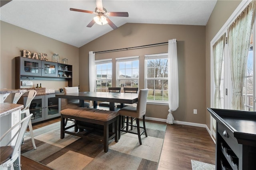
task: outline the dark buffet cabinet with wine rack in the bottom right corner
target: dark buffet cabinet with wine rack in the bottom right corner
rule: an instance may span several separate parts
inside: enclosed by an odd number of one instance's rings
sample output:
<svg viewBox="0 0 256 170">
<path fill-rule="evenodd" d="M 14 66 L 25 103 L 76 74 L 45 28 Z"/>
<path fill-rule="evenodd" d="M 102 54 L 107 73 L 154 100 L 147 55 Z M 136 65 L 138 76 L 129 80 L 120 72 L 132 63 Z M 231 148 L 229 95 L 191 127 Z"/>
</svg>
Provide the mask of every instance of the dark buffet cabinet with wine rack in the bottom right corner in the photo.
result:
<svg viewBox="0 0 256 170">
<path fill-rule="evenodd" d="M 216 119 L 216 170 L 256 170 L 256 112 L 207 109 Z"/>
</svg>

